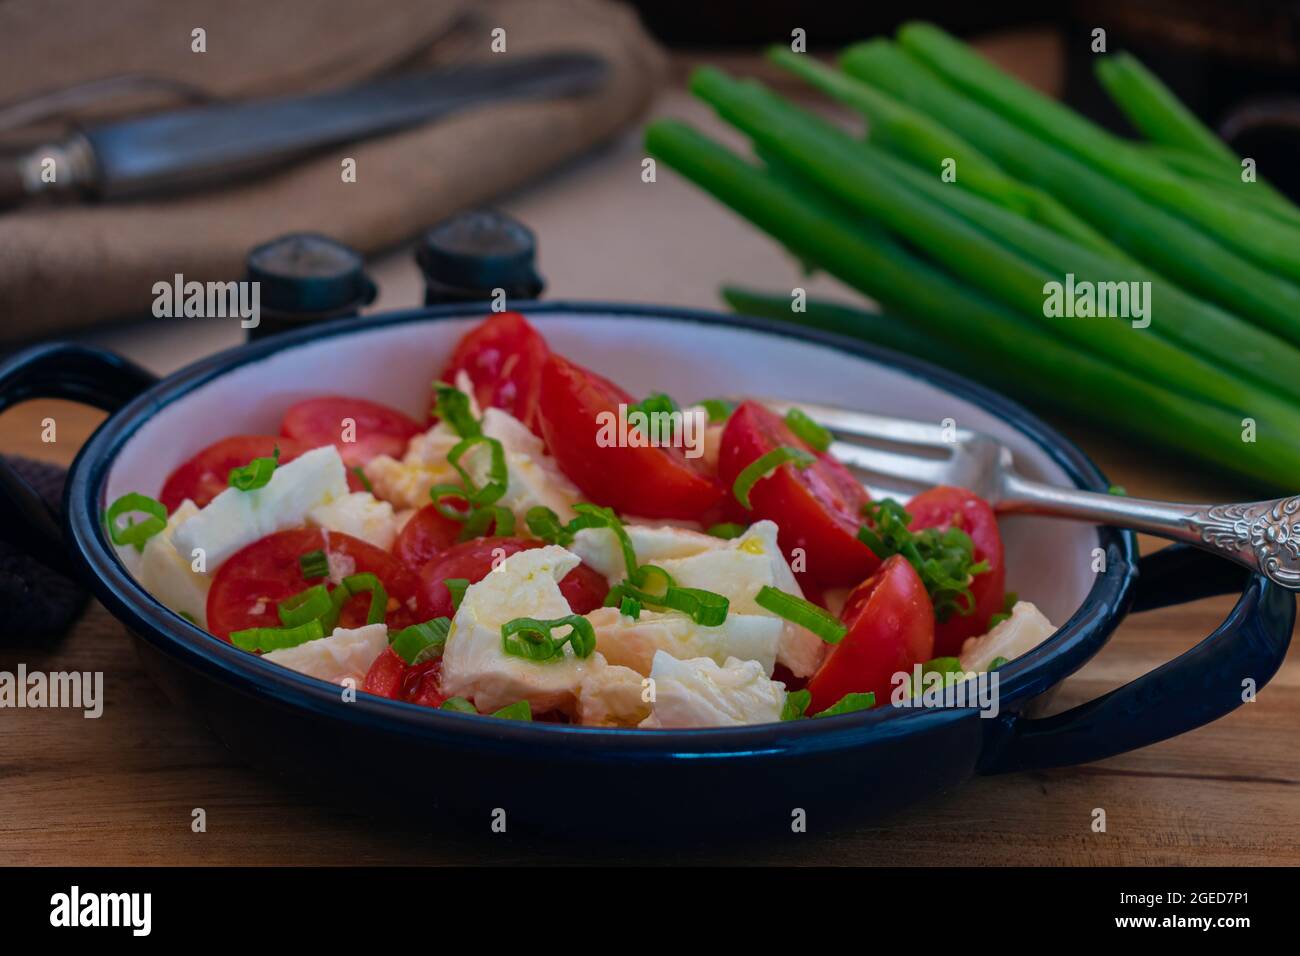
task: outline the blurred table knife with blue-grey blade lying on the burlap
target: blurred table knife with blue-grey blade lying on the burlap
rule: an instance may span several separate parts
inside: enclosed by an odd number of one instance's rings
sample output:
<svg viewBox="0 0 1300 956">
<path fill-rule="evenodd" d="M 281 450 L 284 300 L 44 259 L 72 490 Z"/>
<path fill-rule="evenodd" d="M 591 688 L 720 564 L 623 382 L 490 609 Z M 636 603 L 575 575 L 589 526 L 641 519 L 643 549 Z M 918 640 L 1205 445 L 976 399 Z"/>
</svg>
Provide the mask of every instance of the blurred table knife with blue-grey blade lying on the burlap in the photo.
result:
<svg viewBox="0 0 1300 956">
<path fill-rule="evenodd" d="M 75 189 L 135 199 L 266 172 L 309 152 L 393 133 L 499 100 L 585 94 L 607 74 L 589 53 L 411 73 L 306 96 L 277 96 L 88 126 L 0 172 L 0 203 Z M 42 176 L 53 159 L 57 176 Z"/>
</svg>

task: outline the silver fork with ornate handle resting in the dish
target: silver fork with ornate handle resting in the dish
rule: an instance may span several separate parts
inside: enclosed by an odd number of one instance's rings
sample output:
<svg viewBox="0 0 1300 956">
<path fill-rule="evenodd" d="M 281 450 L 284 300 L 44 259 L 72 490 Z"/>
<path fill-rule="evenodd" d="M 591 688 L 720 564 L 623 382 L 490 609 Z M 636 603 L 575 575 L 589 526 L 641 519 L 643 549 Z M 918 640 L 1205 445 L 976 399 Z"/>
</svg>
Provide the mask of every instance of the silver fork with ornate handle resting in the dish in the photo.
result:
<svg viewBox="0 0 1300 956">
<path fill-rule="evenodd" d="M 1300 591 L 1300 496 L 1243 505 L 1179 505 L 1057 488 L 1022 477 L 1009 447 L 956 424 L 945 428 L 806 402 L 763 403 L 780 415 L 802 408 L 829 429 L 831 453 L 871 477 L 863 484 L 874 498 L 906 502 L 932 485 L 958 485 L 1000 514 L 1072 518 L 1186 541 Z"/>
</svg>

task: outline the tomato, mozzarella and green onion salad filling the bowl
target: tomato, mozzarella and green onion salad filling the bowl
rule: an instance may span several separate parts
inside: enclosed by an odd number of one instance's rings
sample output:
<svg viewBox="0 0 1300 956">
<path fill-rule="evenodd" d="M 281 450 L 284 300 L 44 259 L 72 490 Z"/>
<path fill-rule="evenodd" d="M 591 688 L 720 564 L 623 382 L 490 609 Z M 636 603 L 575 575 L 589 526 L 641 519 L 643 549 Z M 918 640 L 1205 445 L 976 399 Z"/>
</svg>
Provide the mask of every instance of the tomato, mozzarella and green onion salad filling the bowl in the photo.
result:
<svg viewBox="0 0 1300 956">
<path fill-rule="evenodd" d="M 426 420 L 296 401 L 109 503 L 122 563 L 263 659 L 368 693 L 602 727 L 910 701 L 1054 631 L 959 488 L 872 501 L 797 408 L 637 398 L 495 313 Z"/>
</svg>

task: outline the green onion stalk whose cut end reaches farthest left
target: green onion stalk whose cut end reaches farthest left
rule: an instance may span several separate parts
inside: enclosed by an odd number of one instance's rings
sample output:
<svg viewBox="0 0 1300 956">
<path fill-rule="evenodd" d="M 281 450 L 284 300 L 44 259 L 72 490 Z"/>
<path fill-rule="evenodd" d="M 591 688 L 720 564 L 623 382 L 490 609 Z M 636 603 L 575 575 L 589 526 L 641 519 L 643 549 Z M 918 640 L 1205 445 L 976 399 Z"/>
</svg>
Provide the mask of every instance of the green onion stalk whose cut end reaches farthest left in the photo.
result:
<svg viewBox="0 0 1300 956">
<path fill-rule="evenodd" d="M 816 263 L 922 334 L 953 343 L 1015 390 L 1035 394 L 1082 419 L 1213 462 L 1270 488 L 1294 484 L 1297 432 L 1269 431 L 1242 442 L 1242 416 L 1175 394 L 1027 321 L 982 293 L 905 251 L 883 232 L 829 204 L 810 203 L 767 170 L 740 159 L 685 124 L 650 125 L 646 146 L 679 173 L 767 232 L 797 258 Z M 793 315 L 800 320 L 801 316 Z M 1015 356 L 1014 363 L 1010 356 Z M 946 354 L 932 354 L 946 363 Z"/>
</svg>

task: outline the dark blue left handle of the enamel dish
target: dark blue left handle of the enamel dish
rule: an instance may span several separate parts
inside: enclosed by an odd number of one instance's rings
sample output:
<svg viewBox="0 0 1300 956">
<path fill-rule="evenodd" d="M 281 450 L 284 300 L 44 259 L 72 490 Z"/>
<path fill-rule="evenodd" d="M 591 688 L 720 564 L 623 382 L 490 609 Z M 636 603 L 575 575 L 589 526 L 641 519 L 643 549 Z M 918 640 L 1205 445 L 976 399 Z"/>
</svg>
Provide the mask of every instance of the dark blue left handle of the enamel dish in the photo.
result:
<svg viewBox="0 0 1300 956">
<path fill-rule="evenodd" d="M 32 398 L 66 398 L 116 411 L 157 381 L 121 355 L 49 342 L 0 360 L 0 412 Z M 0 459 L 0 538 L 42 564 L 79 578 L 58 515 Z"/>
</svg>

